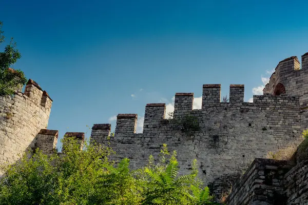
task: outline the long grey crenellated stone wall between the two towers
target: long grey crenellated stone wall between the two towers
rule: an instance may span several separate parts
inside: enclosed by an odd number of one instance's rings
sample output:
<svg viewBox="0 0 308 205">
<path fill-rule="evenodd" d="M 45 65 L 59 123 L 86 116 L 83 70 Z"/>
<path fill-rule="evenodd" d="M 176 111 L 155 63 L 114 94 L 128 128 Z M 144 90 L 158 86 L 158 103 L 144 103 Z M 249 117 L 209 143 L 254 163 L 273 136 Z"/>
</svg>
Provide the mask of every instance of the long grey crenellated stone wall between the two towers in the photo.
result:
<svg viewBox="0 0 308 205">
<path fill-rule="evenodd" d="M 243 93 L 243 85 L 231 85 L 230 103 L 220 103 L 220 85 L 204 85 L 200 110 L 192 110 L 192 93 L 177 93 L 174 118 L 194 116 L 200 130 L 192 135 L 164 119 L 164 104 L 148 104 L 143 133 L 135 133 L 136 114 L 119 114 L 114 137 L 107 140 L 110 126 L 100 124 L 93 126 L 91 138 L 107 146 L 109 142 L 117 153 L 113 159 L 128 157 L 132 168 L 146 165 L 151 154 L 157 157 L 165 143 L 178 152 L 181 173 L 188 173 L 196 158 L 204 182 L 219 185 L 238 176 L 254 158 L 287 147 L 301 132 L 297 96 L 254 96 L 253 103 L 244 103 Z M 214 191 L 220 195 L 226 188 L 216 186 Z"/>
</svg>

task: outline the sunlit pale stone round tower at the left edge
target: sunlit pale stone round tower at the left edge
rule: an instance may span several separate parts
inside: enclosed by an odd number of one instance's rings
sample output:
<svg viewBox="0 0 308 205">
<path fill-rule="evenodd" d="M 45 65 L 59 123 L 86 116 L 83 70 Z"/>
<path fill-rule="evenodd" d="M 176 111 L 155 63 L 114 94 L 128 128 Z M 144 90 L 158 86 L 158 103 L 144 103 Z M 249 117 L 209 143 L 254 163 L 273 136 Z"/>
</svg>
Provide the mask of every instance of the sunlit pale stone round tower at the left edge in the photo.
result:
<svg viewBox="0 0 308 205">
<path fill-rule="evenodd" d="M 29 80 L 25 92 L 0 98 L 0 163 L 13 163 L 48 124 L 52 100 L 46 91 Z"/>
</svg>

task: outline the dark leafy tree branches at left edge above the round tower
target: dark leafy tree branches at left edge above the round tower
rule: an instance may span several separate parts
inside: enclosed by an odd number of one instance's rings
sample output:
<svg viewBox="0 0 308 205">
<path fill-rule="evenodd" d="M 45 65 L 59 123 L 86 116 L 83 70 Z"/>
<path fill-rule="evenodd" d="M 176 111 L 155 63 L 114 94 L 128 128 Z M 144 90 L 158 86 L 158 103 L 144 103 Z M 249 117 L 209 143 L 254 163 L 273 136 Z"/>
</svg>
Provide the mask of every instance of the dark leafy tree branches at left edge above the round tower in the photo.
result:
<svg viewBox="0 0 308 205">
<path fill-rule="evenodd" d="M 5 41 L 3 23 L 0 22 L 0 45 Z M 13 38 L 10 44 L 5 46 L 4 52 L 0 52 L 0 96 L 12 95 L 21 85 L 26 84 L 25 74 L 21 70 L 10 69 L 10 66 L 21 58 L 20 52 L 16 49 L 16 43 Z"/>
</svg>

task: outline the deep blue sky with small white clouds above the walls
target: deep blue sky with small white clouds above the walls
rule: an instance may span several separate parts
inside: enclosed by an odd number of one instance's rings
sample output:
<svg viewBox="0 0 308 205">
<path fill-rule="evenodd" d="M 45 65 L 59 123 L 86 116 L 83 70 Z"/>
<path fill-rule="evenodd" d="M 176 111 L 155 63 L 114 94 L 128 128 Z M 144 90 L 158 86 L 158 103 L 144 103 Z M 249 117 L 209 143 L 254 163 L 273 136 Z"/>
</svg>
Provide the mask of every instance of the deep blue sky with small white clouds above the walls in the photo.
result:
<svg viewBox="0 0 308 205">
<path fill-rule="evenodd" d="M 308 52 L 307 1 L 3 1 L 13 66 L 53 99 L 48 129 L 87 132 L 176 92 L 245 84 L 245 101 L 284 58 Z M 259 88 L 258 88 L 259 87 Z M 198 101 L 199 100 L 199 101 Z M 142 124 L 139 124 L 140 126 Z M 140 131 L 140 128 L 139 128 Z"/>
</svg>

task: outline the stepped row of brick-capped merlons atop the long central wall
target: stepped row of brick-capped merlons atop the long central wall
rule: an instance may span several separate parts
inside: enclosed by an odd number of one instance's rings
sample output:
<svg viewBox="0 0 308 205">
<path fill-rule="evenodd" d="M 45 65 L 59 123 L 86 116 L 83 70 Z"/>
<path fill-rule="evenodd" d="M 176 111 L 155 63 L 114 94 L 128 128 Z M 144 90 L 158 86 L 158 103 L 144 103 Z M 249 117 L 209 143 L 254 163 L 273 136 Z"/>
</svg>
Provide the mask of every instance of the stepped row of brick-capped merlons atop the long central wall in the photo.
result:
<svg viewBox="0 0 308 205">
<path fill-rule="evenodd" d="M 218 114 L 224 113 L 226 110 L 240 111 L 244 114 L 253 113 L 254 110 L 272 111 L 273 109 L 280 110 L 279 112 L 282 112 L 282 109 L 295 109 L 296 112 L 299 112 L 299 96 L 289 96 L 286 94 L 279 96 L 271 94 L 254 95 L 253 103 L 248 103 L 244 102 L 244 85 L 232 84 L 230 85 L 229 102 L 220 102 L 217 99 L 217 96 L 220 95 L 219 84 L 204 85 L 203 91 L 203 96 L 206 95 L 205 102 L 208 104 L 202 103 L 204 106 L 200 110 L 192 108 L 194 93 L 176 93 L 174 118 L 181 119 L 185 115 L 200 116 L 205 112 L 216 112 Z M 210 95 L 209 93 L 215 94 Z M 147 134 L 151 133 L 153 129 L 161 129 L 166 124 L 164 120 L 166 119 L 165 112 L 165 104 L 147 104 L 145 106 L 143 133 Z M 136 134 L 137 119 L 137 114 L 119 114 L 117 116 L 115 135 Z M 92 135 L 95 141 L 103 143 L 104 140 L 100 136 L 103 135 L 105 139 L 106 136 L 110 135 L 110 129 L 110 124 L 95 124 L 92 128 Z"/>
</svg>

